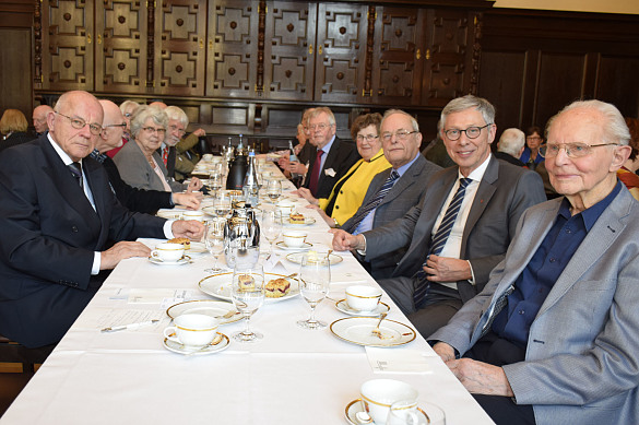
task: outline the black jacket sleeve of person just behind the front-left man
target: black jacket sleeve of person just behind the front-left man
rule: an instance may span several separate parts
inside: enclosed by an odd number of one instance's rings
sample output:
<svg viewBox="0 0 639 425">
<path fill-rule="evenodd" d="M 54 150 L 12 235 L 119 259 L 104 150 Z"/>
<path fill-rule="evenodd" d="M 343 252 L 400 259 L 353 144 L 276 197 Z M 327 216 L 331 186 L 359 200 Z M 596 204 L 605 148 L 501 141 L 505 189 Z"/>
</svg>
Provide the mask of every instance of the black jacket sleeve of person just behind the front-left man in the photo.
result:
<svg viewBox="0 0 639 425">
<path fill-rule="evenodd" d="M 102 164 L 109 176 L 109 184 L 122 205 L 130 211 L 155 214 L 161 208 L 173 208 L 170 192 L 144 190 L 129 186 L 120 177 L 114 160 L 106 157 Z"/>
</svg>

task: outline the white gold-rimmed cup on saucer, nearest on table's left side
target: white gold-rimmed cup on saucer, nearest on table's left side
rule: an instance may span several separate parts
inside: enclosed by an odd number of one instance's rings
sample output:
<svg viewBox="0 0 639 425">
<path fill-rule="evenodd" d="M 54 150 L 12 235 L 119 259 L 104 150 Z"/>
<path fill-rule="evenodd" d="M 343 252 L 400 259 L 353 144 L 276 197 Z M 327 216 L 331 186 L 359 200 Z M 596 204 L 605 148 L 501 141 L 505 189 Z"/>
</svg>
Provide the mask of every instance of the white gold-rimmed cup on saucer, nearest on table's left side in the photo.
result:
<svg viewBox="0 0 639 425">
<path fill-rule="evenodd" d="M 179 344 L 203 346 L 217 333 L 220 320 L 206 315 L 180 315 L 173 321 L 175 326 L 164 330 L 164 337 Z"/>
</svg>

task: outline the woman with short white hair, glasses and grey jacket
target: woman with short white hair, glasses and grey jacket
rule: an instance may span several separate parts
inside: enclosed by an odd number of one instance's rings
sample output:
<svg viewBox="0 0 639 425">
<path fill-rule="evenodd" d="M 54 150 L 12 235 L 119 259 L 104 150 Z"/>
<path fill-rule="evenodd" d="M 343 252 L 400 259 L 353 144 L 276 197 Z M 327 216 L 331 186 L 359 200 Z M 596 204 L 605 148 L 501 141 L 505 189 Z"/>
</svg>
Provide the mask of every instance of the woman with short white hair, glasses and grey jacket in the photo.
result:
<svg viewBox="0 0 639 425">
<path fill-rule="evenodd" d="M 166 166 L 156 152 L 164 141 L 167 127 L 168 117 L 164 110 L 154 106 L 135 109 L 131 116 L 131 138 L 134 143 L 127 143 L 114 157 L 120 177 L 139 189 L 196 191 L 202 186 L 198 178 L 192 178 L 188 186 L 167 178 Z"/>
</svg>

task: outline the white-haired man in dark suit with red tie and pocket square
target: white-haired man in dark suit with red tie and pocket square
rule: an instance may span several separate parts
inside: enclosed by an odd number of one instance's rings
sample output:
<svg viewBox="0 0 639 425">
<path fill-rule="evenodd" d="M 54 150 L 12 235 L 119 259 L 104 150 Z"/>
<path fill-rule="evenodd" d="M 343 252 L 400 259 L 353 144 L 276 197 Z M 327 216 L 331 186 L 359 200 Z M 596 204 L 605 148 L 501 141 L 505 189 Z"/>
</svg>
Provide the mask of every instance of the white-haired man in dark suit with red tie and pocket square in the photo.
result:
<svg viewBox="0 0 639 425">
<path fill-rule="evenodd" d="M 316 146 L 303 187 L 315 198 L 329 198 L 335 182 L 359 160 L 355 143 L 335 135 L 335 117 L 327 107 L 315 108 L 308 119 L 310 143 Z"/>
</svg>

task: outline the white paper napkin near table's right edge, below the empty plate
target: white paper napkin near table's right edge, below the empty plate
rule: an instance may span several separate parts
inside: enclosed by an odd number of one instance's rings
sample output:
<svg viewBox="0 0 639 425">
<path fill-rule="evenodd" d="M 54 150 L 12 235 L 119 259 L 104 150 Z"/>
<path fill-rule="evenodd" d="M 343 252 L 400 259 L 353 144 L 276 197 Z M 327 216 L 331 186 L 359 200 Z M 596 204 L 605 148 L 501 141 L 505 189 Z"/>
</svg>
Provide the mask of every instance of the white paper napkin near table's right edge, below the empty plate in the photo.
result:
<svg viewBox="0 0 639 425">
<path fill-rule="evenodd" d="M 366 356 L 376 374 L 431 374 L 426 354 L 406 349 L 367 346 Z"/>
</svg>

